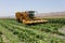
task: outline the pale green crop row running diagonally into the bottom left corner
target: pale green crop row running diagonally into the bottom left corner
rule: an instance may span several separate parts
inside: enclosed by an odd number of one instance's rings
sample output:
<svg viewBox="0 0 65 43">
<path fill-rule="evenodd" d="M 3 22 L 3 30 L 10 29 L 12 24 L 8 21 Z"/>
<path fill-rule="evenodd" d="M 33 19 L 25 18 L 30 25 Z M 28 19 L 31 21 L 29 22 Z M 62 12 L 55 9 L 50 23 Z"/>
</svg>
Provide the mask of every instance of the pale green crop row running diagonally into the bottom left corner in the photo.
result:
<svg viewBox="0 0 65 43">
<path fill-rule="evenodd" d="M 1 24 L 0 24 L 0 31 L 6 35 L 6 38 L 10 40 L 10 43 L 18 43 L 18 39 Z"/>
</svg>

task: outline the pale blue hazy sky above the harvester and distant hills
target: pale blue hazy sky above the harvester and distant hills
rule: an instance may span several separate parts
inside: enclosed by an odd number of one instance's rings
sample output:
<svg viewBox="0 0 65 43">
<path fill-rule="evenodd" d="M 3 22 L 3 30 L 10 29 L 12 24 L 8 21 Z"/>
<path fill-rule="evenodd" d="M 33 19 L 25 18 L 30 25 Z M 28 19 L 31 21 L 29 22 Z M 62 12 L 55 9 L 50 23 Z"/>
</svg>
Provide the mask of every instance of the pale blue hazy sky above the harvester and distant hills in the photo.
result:
<svg viewBox="0 0 65 43">
<path fill-rule="evenodd" d="M 65 0 L 0 0 L 0 17 L 30 10 L 39 13 L 65 12 Z"/>
</svg>

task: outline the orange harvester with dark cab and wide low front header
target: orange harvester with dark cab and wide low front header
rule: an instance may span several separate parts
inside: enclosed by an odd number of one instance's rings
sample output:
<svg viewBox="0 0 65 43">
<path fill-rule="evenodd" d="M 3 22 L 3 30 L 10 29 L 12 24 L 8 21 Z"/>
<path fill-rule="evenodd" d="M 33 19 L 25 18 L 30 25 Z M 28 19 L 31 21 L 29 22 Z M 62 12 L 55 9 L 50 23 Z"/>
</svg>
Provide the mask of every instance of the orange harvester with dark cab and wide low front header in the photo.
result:
<svg viewBox="0 0 65 43">
<path fill-rule="evenodd" d="M 40 24 L 47 23 L 48 20 L 36 17 L 35 11 L 25 11 L 25 12 L 16 12 L 15 13 L 16 20 L 23 24 Z"/>
</svg>

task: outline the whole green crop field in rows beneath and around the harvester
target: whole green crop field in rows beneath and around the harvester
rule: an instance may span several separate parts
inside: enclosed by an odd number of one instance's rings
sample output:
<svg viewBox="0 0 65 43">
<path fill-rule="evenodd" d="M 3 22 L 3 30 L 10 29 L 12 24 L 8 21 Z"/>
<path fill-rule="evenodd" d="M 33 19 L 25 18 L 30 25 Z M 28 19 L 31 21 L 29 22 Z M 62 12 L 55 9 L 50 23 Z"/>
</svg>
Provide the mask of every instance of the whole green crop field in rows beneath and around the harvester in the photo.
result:
<svg viewBox="0 0 65 43">
<path fill-rule="evenodd" d="M 0 19 L 0 43 L 65 43 L 65 18 L 24 25 L 16 19 Z"/>
</svg>

